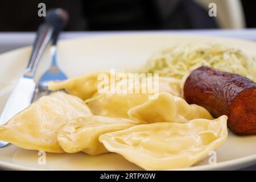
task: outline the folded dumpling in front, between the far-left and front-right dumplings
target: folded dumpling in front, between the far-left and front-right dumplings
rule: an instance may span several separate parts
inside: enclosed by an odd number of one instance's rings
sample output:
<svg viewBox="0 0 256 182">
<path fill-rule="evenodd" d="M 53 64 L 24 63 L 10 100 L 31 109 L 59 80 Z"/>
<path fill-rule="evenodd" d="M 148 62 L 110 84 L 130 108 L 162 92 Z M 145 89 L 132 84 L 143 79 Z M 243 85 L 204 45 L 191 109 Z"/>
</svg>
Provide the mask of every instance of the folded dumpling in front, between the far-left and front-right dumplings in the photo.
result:
<svg viewBox="0 0 256 182">
<path fill-rule="evenodd" d="M 90 115 L 68 122 L 57 136 L 60 146 L 65 152 L 85 152 L 89 155 L 99 155 L 109 152 L 98 141 L 101 134 L 127 129 L 139 122 L 124 118 L 109 118 L 100 115 Z"/>
</svg>

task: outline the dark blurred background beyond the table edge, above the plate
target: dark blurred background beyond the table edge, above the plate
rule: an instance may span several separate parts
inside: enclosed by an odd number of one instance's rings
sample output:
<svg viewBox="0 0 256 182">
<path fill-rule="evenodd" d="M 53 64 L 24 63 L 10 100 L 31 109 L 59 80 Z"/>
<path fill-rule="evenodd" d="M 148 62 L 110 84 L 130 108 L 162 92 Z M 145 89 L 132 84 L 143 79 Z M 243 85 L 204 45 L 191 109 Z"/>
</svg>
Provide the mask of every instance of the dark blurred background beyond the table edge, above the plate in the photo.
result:
<svg viewBox="0 0 256 182">
<path fill-rule="evenodd" d="M 36 31 L 42 2 L 69 12 L 66 31 L 256 27 L 256 2 L 249 0 L 27 0 L 0 2 L 0 31 Z M 217 5 L 216 17 L 208 15 L 210 2 Z"/>
</svg>

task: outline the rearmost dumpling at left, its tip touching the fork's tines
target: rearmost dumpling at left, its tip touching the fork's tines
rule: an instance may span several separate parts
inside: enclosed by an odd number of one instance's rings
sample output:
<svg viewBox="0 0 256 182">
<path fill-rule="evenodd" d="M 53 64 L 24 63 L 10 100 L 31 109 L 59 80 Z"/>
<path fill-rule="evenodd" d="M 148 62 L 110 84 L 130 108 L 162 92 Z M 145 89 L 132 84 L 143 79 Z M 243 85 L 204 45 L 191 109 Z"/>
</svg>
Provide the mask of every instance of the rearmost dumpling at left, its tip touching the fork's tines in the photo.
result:
<svg viewBox="0 0 256 182">
<path fill-rule="evenodd" d="M 98 80 L 98 75 L 109 72 L 93 72 L 84 76 L 70 78 L 65 81 L 49 82 L 48 87 L 51 90 L 66 90 L 69 94 L 80 97 L 82 100 L 86 100 L 93 96 L 97 92 L 97 86 L 101 82 Z"/>
</svg>

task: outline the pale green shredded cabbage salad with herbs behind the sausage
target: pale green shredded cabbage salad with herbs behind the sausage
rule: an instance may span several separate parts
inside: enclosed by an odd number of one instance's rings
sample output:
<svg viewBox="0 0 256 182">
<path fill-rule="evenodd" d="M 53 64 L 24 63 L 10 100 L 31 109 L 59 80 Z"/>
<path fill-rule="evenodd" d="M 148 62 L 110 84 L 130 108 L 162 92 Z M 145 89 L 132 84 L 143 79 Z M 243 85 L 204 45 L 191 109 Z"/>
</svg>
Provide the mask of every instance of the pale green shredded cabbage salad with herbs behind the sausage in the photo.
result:
<svg viewBox="0 0 256 182">
<path fill-rule="evenodd" d="M 204 47 L 176 45 L 154 53 L 147 63 L 135 72 L 159 73 L 159 76 L 181 80 L 182 86 L 188 75 L 203 65 L 232 72 L 256 82 L 255 57 L 246 55 L 240 49 L 212 44 Z"/>
</svg>

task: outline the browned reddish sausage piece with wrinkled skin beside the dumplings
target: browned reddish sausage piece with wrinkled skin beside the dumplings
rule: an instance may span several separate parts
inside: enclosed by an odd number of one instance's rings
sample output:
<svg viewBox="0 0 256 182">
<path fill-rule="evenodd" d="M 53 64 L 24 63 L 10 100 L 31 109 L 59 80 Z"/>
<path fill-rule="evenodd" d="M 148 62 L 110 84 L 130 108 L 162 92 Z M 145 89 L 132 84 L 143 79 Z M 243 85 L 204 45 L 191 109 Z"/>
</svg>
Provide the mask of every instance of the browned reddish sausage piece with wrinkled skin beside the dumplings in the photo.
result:
<svg viewBox="0 0 256 182">
<path fill-rule="evenodd" d="M 256 134 L 256 84 L 250 79 L 200 67 L 185 81 L 184 97 L 189 104 L 205 107 L 213 117 L 227 115 L 234 133 Z"/>
</svg>

